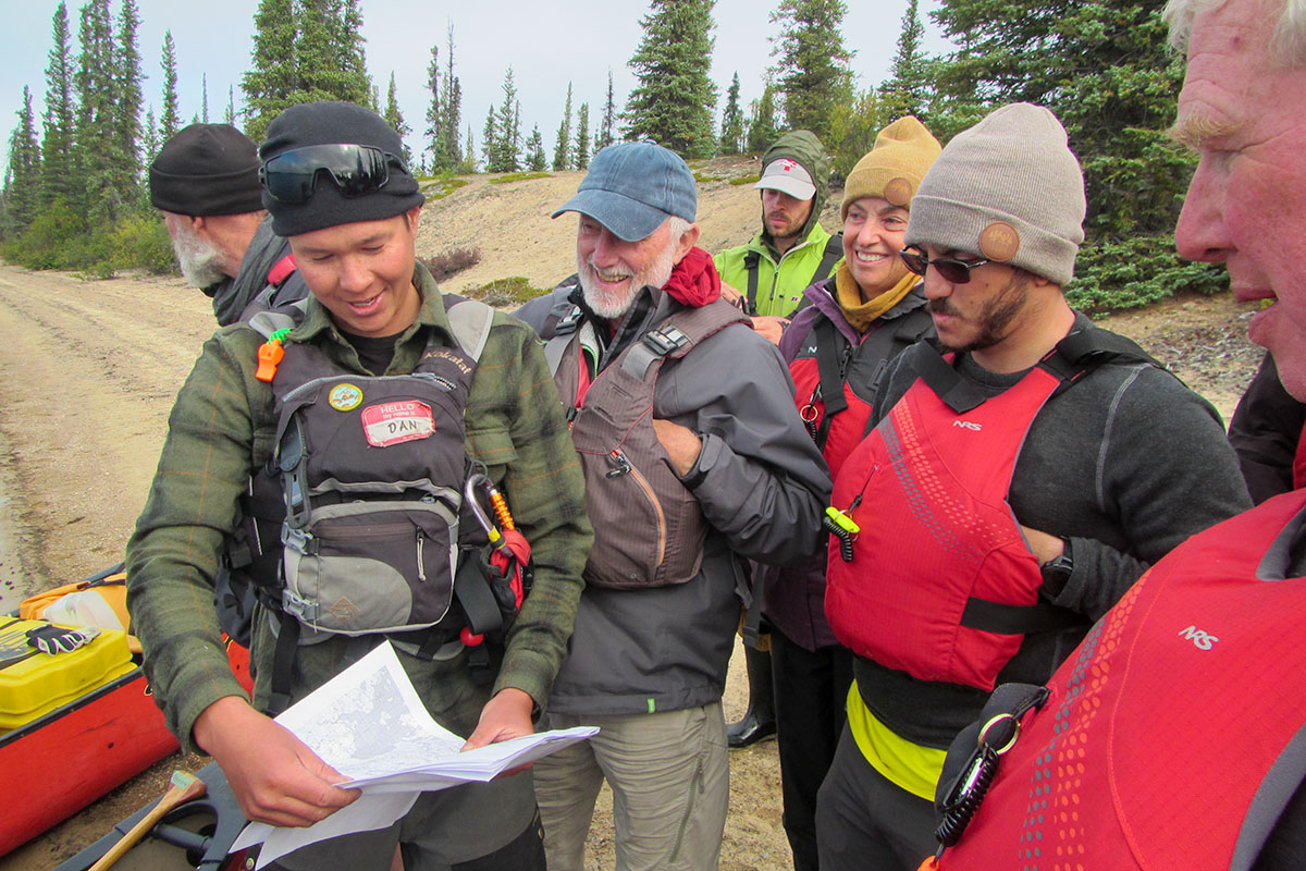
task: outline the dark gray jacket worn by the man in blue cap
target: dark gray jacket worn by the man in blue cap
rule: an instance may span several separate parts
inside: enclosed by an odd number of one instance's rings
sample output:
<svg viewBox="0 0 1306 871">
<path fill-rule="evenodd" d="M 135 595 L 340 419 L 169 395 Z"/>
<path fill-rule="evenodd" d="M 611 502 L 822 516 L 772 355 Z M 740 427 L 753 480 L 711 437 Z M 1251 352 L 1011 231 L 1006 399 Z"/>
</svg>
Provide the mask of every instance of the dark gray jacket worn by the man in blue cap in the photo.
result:
<svg viewBox="0 0 1306 871">
<path fill-rule="evenodd" d="M 517 316 L 547 332 L 549 312 L 575 287 L 568 279 Z M 599 371 L 679 306 L 661 289 L 641 290 L 603 349 Z M 596 320 L 596 332 L 609 337 L 607 321 Z M 667 362 L 653 415 L 703 440 L 697 462 L 683 478 L 709 524 L 701 569 L 673 586 L 586 588 L 549 699 L 551 712 L 654 713 L 720 700 L 739 622 L 737 590 L 747 584 L 746 560 L 793 562 L 823 535 L 829 473 L 798 417 L 794 383 L 780 353 L 748 326 L 727 326 L 683 359 Z"/>
</svg>

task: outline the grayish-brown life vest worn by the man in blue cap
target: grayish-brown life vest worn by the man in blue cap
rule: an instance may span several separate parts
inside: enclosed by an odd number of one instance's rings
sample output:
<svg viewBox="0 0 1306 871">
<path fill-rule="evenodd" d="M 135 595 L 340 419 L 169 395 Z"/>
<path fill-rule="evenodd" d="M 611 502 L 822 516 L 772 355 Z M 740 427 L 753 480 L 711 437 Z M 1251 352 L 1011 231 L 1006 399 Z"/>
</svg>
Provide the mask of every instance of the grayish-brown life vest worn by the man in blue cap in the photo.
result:
<svg viewBox="0 0 1306 871">
<path fill-rule="evenodd" d="M 580 308 L 559 312 L 545 356 L 568 406 L 572 441 L 585 471 L 594 547 L 585 582 L 609 589 L 683 584 L 699 573 L 708 524 L 680 483 L 653 430 L 653 393 L 667 360 L 680 360 L 731 324 L 738 308 L 716 300 L 683 308 L 653 325 L 582 389 L 582 354 L 596 354 L 593 325 Z M 552 319 L 551 319 L 552 320 Z M 586 332 L 588 330 L 588 332 Z"/>
</svg>

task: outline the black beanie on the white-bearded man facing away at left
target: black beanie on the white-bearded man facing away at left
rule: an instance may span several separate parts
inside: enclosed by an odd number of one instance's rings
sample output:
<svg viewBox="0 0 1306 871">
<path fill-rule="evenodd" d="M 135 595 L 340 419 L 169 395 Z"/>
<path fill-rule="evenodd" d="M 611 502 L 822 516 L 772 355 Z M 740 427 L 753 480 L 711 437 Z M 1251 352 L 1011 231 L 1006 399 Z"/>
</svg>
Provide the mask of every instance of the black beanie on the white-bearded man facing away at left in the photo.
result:
<svg viewBox="0 0 1306 871">
<path fill-rule="evenodd" d="M 191 124 L 150 163 L 150 202 L 176 214 L 242 214 L 263 208 L 253 140 L 230 124 Z"/>
</svg>

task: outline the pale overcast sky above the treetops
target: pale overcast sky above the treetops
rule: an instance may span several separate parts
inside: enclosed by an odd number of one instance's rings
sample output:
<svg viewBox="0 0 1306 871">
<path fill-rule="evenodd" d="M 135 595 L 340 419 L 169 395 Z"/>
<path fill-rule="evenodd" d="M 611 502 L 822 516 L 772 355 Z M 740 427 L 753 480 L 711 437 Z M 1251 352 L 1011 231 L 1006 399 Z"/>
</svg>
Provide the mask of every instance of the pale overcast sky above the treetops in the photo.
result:
<svg viewBox="0 0 1306 871">
<path fill-rule="evenodd" d="M 78 8 L 69 0 L 68 16 L 73 52 L 77 50 Z M 182 116 L 200 114 L 201 77 L 208 76 L 209 120 L 221 121 L 227 104 L 227 89 L 235 87 L 242 103 L 240 74 L 249 67 L 251 34 L 257 0 L 223 0 L 191 4 L 176 0 L 137 0 L 141 26 L 137 31 L 142 57 L 145 104 L 159 114 L 163 86 L 159 57 L 163 31 L 171 30 L 176 43 Z M 771 7 L 774 4 L 772 3 Z M 878 85 L 888 76 L 902 13 L 908 0 L 853 0 L 844 22 L 844 42 L 854 50 L 853 69 L 859 87 Z M 921 14 L 934 31 L 927 10 L 936 0 L 923 0 Z M 57 0 L 0 0 L 8 30 L 0 56 L 0 132 L 8 148 L 9 131 L 17 124 L 14 112 L 22 108 L 22 87 L 33 91 L 33 108 L 39 118 L 44 107 L 44 69 L 51 48 L 51 20 Z M 112 0 L 116 17 L 120 0 Z M 367 39 L 367 67 L 384 106 L 390 73 L 394 73 L 400 108 L 410 128 L 410 148 L 422 148 L 418 137 L 426 128 L 426 65 L 431 46 L 440 46 L 445 61 L 445 33 L 453 22 L 454 73 L 462 81 L 462 127 L 470 123 L 477 149 L 486 110 L 503 99 L 504 71 L 513 68 L 521 101 L 522 136 L 534 124 L 543 135 L 546 151 L 552 154 L 554 137 L 562 121 L 567 82 L 573 86 L 573 110 L 582 102 L 590 107 L 590 127 L 603 111 L 607 72 L 611 69 L 616 108 L 622 110 L 635 80 L 626 67 L 639 44 L 639 20 L 648 13 L 641 0 L 568 0 L 562 8 L 539 0 L 499 0 L 482 3 L 414 4 L 402 0 L 362 0 L 363 35 Z M 421 12 L 418 12 L 421 9 Z M 716 50 L 712 78 L 721 95 L 717 116 L 725 106 L 725 90 L 738 71 L 742 103 L 761 93 L 765 68 L 772 63 L 768 37 L 777 30 L 768 21 L 768 5 L 747 0 L 717 0 Z M 927 39 L 926 50 L 948 50 L 938 37 Z M 575 116 L 573 116 L 575 118 Z M 142 111 L 144 120 L 144 111 Z M 573 120 L 575 125 L 575 120 Z"/>
</svg>

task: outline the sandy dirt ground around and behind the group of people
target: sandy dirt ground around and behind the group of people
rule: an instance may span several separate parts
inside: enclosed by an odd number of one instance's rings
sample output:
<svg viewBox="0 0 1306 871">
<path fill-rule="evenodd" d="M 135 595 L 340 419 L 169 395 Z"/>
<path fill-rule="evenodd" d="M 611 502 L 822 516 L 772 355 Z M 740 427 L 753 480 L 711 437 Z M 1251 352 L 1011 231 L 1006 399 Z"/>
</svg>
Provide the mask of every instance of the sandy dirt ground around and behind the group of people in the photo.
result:
<svg viewBox="0 0 1306 871">
<path fill-rule="evenodd" d="M 704 176 L 703 244 L 717 249 L 754 232 L 757 200 L 730 174 L 746 162 L 696 165 Z M 721 178 L 712 180 L 713 175 Z M 549 219 L 577 174 L 503 185 L 478 179 L 427 206 L 419 253 L 479 248 L 478 266 L 445 282 L 465 290 L 525 276 L 537 287 L 573 270 L 573 219 Z M 829 215 L 833 214 L 833 219 Z M 827 226 L 837 222 L 831 206 Z M 1185 298 L 1104 319 L 1140 341 L 1222 414 L 1233 410 L 1260 358 L 1245 338 L 1250 312 L 1228 295 Z M 209 303 L 179 279 L 73 276 L 0 266 L 0 610 L 31 592 L 85 577 L 121 559 L 154 471 L 167 414 L 204 340 Z M 742 666 L 742 657 L 738 656 Z M 746 704 L 742 667 L 731 669 L 727 720 Z M 161 794 L 176 767 L 165 760 L 72 820 L 0 858 L 0 871 L 44 868 L 97 840 Z M 774 742 L 731 753 L 731 798 L 721 867 L 784 868 L 789 847 L 780 820 Z M 8 797 L 7 800 L 13 800 Z M 606 799 L 605 799 L 606 800 Z M 613 867 L 610 815 L 590 836 L 588 868 Z"/>
</svg>

